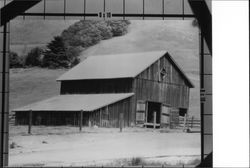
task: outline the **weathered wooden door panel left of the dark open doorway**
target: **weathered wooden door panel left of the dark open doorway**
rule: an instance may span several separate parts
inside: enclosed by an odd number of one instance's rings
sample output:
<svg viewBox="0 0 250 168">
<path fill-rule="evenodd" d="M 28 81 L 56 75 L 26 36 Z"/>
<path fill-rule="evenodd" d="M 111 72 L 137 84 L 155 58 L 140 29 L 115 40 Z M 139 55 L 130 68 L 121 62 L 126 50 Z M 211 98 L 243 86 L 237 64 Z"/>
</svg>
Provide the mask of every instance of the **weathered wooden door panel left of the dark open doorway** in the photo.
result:
<svg viewBox="0 0 250 168">
<path fill-rule="evenodd" d="M 146 114 L 146 101 L 138 100 L 136 105 L 136 124 L 144 124 Z"/>
</svg>

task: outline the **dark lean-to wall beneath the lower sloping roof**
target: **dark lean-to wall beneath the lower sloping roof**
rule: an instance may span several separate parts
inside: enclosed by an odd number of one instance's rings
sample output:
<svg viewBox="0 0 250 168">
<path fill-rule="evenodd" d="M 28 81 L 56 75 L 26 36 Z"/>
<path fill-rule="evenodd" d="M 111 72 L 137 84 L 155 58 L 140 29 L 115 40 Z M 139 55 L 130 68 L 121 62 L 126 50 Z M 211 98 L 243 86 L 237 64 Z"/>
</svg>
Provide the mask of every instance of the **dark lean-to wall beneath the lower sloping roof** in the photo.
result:
<svg viewBox="0 0 250 168">
<path fill-rule="evenodd" d="M 123 126 L 129 126 L 131 122 L 130 99 L 121 100 L 92 112 L 83 112 L 82 125 L 88 126 L 91 124 L 92 126 L 97 125 L 100 127 L 119 127 L 119 114 L 123 113 Z M 16 112 L 15 116 L 17 125 L 27 125 L 29 123 L 29 111 Z M 79 125 L 79 118 L 80 111 L 33 111 L 32 125 L 77 126 Z"/>
</svg>

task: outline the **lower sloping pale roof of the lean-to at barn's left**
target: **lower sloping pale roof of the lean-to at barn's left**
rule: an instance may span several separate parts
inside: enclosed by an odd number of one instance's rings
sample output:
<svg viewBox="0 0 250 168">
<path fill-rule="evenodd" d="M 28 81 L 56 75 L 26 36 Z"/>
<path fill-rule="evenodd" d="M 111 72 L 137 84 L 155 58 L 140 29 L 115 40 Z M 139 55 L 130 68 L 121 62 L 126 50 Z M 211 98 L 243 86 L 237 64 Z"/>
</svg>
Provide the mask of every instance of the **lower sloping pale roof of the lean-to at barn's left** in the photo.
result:
<svg viewBox="0 0 250 168">
<path fill-rule="evenodd" d="M 134 93 L 59 95 L 13 111 L 93 111 L 132 95 Z"/>
</svg>

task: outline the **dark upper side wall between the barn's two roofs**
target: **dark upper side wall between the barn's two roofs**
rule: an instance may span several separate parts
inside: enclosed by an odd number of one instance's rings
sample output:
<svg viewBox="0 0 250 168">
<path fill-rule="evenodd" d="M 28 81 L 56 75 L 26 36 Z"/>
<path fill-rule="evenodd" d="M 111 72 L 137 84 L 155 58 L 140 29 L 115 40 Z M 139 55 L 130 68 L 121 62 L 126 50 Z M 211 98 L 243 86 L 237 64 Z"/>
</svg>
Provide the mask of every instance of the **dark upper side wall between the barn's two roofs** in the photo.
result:
<svg viewBox="0 0 250 168">
<path fill-rule="evenodd" d="M 95 79 L 62 81 L 61 94 L 130 93 L 132 79 Z"/>
</svg>

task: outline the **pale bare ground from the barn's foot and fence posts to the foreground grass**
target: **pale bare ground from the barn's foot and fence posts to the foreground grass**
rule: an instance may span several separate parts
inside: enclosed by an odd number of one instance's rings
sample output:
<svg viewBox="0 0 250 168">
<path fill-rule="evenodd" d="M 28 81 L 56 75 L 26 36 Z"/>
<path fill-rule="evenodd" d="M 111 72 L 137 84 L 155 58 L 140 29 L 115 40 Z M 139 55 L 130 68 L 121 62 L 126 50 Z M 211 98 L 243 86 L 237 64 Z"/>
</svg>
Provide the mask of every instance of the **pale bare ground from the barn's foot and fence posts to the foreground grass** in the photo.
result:
<svg viewBox="0 0 250 168">
<path fill-rule="evenodd" d="M 129 159 L 165 165 L 194 164 L 200 158 L 200 134 L 126 128 L 10 127 L 9 166 L 100 166 Z"/>
</svg>

